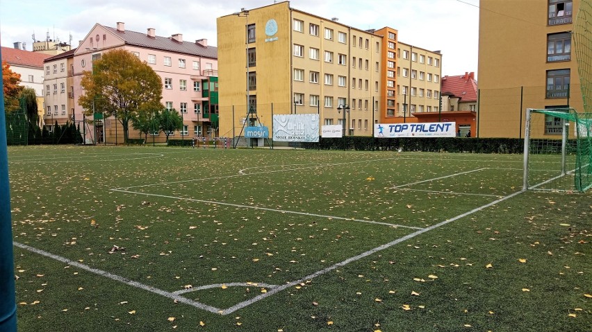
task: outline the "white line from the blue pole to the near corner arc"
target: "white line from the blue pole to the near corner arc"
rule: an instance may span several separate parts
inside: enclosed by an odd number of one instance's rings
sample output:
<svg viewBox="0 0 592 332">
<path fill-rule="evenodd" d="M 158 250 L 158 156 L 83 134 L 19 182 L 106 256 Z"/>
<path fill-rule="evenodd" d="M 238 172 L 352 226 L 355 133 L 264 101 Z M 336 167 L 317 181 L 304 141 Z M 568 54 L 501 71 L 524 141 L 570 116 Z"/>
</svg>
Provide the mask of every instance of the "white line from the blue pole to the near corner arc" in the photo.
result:
<svg viewBox="0 0 592 332">
<path fill-rule="evenodd" d="M 19 247 L 19 248 L 22 248 L 24 250 L 28 250 L 30 252 L 35 252 L 35 254 L 40 254 L 42 256 L 46 256 L 46 257 L 49 257 L 51 259 L 55 259 L 56 261 L 60 261 L 62 263 L 66 263 L 67 265 L 72 265 L 72 266 L 75 266 L 76 268 L 79 268 L 79 269 L 82 269 L 82 270 L 85 270 L 85 271 L 88 271 L 88 272 L 91 272 L 91 273 L 94 273 L 94 274 L 98 274 L 101 277 L 106 277 L 106 278 L 109 278 L 109 279 L 113 279 L 115 281 L 120 281 L 121 283 L 125 283 L 126 285 L 129 285 L 129 286 L 132 286 L 132 287 L 135 287 L 135 288 L 140 288 L 142 290 L 147 290 L 148 292 L 154 292 L 155 294 L 162 295 L 163 297 L 168 297 L 170 299 L 174 299 L 177 302 L 181 302 L 181 303 L 184 303 L 184 304 L 189 304 L 190 306 L 195 306 L 195 308 L 203 309 L 203 310 L 209 311 L 211 313 L 220 313 L 220 311 L 221 311 L 219 308 L 215 308 L 213 306 L 208 306 L 207 304 L 203 304 L 203 303 L 200 303 L 200 302 L 197 302 L 197 301 L 193 301 L 193 300 L 188 299 L 186 297 L 182 297 L 181 295 L 177 295 L 177 294 L 174 294 L 172 292 L 167 292 L 166 290 L 161 290 L 159 288 L 155 288 L 155 287 L 152 287 L 152 286 L 147 286 L 147 285 L 145 285 L 143 283 L 139 283 L 138 281 L 132 281 L 130 279 L 127 279 L 127 278 L 118 276 L 117 274 L 113 274 L 113 273 L 109 273 L 109 272 L 106 272 L 106 271 L 103 271 L 103 270 L 91 268 L 88 265 L 81 264 L 81 263 L 76 262 L 76 261 L 72 261 L 72 260 L 67 259 L 65 257 L 62 257 L 62 256 L 51 254 L 51 253 L 46 252 L 44 250 L 36 249 L 36 248 L 31 247 L 29 245 L 24 245 L 24 244 L 18 243 L 18 242 L 13 242 L 13 245 L 15 245 L 15 247 Z"/>
</svg>

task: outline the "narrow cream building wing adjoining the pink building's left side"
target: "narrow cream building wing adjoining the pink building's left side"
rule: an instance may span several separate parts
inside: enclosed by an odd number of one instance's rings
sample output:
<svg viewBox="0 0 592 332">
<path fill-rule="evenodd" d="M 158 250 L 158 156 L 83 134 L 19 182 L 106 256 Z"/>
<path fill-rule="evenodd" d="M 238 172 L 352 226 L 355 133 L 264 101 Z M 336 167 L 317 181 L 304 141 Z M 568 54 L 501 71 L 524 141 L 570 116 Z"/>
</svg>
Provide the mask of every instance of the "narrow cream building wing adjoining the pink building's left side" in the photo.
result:
<svg viewBox="0 0 592 332">
<path fill-rule="evenodd" d="M 51 132 L 54 125 L 74 119 L 74 51 L 54 55 L 43 62 L 45 76 L 43 125 Z"/>
</svg>

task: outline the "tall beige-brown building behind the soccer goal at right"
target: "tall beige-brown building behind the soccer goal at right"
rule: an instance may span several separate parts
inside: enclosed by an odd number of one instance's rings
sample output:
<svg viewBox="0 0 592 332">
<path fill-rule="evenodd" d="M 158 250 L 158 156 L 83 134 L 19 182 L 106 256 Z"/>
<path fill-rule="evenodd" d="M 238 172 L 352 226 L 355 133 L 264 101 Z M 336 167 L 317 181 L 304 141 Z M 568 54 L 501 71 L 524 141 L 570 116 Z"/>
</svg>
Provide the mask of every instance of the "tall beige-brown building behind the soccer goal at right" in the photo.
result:
<svg viewBox="0 0 592 332">
<path fill-rule="evenodd" d="M 479 3 L 479 136 L 523 137 L 527 108 L 583 111 L 571 31 L 579 0 Z M 532 132 L 561 138 L 559 119 Z"/>
</svg>

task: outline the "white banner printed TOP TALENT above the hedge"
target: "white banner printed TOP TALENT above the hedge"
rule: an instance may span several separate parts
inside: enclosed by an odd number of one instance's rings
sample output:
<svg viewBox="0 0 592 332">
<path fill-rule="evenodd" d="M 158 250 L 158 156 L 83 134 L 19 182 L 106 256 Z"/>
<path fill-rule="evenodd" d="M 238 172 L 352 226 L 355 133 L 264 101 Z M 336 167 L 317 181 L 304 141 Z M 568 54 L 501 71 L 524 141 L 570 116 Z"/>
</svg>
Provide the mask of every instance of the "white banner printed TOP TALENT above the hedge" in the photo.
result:
<svg viewBox="0 0 592 332">
<path fill-rule="evenodd" d="M 374 137 L 456 137 L 455 122 L 378 123 Z"/>
</svg>

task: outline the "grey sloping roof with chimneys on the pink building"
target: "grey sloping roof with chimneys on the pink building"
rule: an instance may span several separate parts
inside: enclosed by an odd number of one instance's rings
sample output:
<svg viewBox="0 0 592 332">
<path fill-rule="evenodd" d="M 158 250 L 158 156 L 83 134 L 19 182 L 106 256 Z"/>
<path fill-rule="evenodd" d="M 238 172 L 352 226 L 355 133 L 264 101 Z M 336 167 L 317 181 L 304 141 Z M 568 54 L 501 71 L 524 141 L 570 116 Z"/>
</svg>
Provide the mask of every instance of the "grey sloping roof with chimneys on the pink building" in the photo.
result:
<svg viewBox="0 0 592 332">
<path fill-rule="evenodd" d="M 118 31 L 116 28 L 105 26 L 107 30 L 110 30 L 113 34 L 118 35 L 124 40 L 126 44 L 146 47 L 148 49 L 159 49 L 163 51 L 171 51 L 176 53 L 184 53 L 190 55 L 197 55 L 206 58 L 217 59 L 218 48 L 215 46 L 202 46 L 195 42 L 176 42 L 172 37 L 149 37 L 147 33 L 137 33 L 131 30 L 125 30 L 124 32 Z"/>
</svg>

